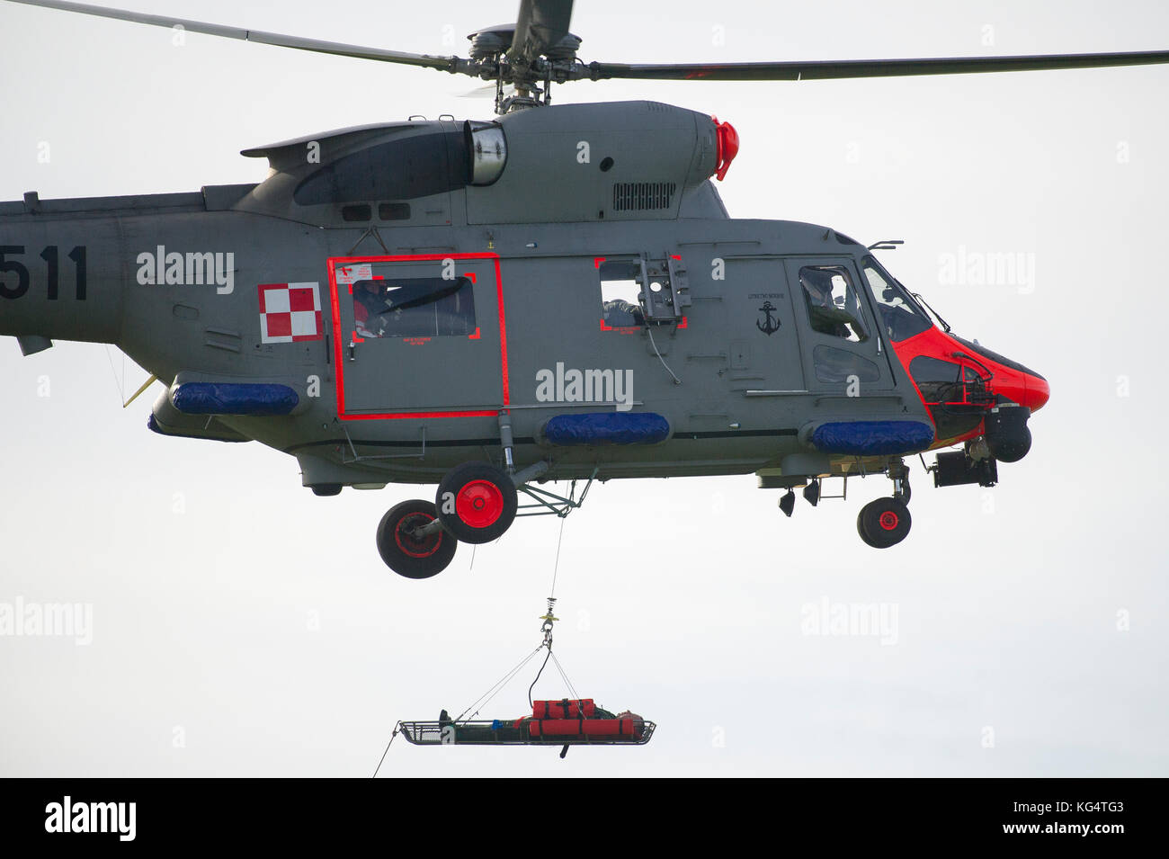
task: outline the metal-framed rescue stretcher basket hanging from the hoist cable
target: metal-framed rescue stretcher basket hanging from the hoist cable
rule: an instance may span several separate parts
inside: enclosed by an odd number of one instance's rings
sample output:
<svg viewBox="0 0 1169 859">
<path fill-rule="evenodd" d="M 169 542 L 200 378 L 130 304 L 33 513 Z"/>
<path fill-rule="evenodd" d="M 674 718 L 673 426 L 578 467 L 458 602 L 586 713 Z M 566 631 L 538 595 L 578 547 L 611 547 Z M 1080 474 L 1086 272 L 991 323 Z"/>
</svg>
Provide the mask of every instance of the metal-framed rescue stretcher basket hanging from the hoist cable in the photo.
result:
<svg viewBox="0 0 1169 859">
<path fill-rule="evenodd" d="M 414 746 L 644 746 L 657 726 L 644 719 L 484 719 L 407 722 Z"/>
</svg>

